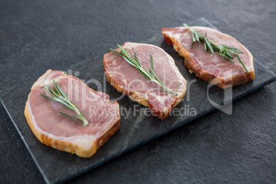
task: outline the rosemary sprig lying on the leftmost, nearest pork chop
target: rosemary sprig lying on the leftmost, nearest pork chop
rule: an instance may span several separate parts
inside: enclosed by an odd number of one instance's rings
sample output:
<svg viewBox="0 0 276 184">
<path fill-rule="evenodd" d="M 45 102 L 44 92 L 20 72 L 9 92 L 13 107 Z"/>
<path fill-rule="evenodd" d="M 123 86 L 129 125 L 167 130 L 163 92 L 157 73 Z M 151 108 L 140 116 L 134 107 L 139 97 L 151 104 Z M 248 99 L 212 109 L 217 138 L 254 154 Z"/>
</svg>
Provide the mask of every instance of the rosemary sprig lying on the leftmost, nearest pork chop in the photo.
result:
<svg viewBox="0 0 276 184">
<path fill-rule="evenodd" d="M 51 89 L 51 87 L 49 87 L 47 84 L 46 84 L 47 88 L 44 87 L 45 91 L 50 93 L 53 97 L 49 97 L 44 94 L 41 94 L 41 95 L 43 97 L 47 98 L 48 100 L 52 100 L 54 102 L 59 102 L 59 103 L 63 104 L 62 108 L 65 108 L 65 109 L 68 109 L 71 111 L 75 111 L 77 113 L 77 115 L 72 114 L 72 116 L 69 116 L 65 113 L 58 111 L 58 113 L 60 113 L 60 115 L 68 117 L 69 119 L 72 119 L 75 122 L 78 122 L 79 124 L 83 124 L 84 126 L 87 126 L 88 122 L 87 122 L 87 119 L 85 119 L 85 117 L 82 115 L 82 111 L 78 110 L 76 105 L 73 104 L 73 102 L 71 100 L 69 100 L 69 97 L 67 95 L 65 95 L 65 93 L 62 91 L 62 89 L 60 88 L 58 83 L 55 82 L 55 80 L 53 80 L 53 84 L 54 84 L 54 89 Z M 76 117 L 77 119 L 74 117 Z M 80 122 L 78 119 L 81 120 L 82 122 Z"/>
</svg>

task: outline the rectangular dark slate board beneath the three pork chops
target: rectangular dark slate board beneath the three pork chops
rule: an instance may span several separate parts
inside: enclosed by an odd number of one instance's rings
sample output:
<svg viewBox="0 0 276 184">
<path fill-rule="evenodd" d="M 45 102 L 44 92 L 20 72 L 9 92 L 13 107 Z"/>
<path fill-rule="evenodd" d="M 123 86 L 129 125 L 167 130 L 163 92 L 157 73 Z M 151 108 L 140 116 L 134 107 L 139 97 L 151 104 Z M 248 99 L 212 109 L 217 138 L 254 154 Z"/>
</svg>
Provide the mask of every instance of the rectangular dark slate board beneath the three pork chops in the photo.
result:
<svg viewBox="0 0 276 184">
<path fill-rule="evenodd" d="M 216 28 L 203 18 L 189 22 L 188 25 Z M 106 82 L 102 56 L 84 60 L 66 70 L 58 69 L 77 76 L 81 80 L 84 80 L 84 82 L 87 82 L 89 87 L 92 87 L 95 91 L 104 91 L 110 95 L 111 100 L 119 102 L 122 117 L 121 127 L 90 159 L 83 159 L 77 157 L 75 154 L 61 152 L 45 146 L 32 133 L 24 116 L 24 108 L 27 95 L 30 93 L 32 84 L 37 79 L 21 84 L 20 87 L 15 87 L 9 93 L 5 93 L 5 95 L 2 93 L 1 101 L 47 183 L 67 181 L 155 137 L 159 137 L 201 115 L 213 111 L 216 109 L 215 104 L 221 105 L 225 102 L 232 102 L 276 80 L 274 73 L 271 73 L 271 71 L 260 65 L 260 62 L 254 60 L 256 78 L 253 81 L 233 87 L 232 91 L 228 92 L 218 87 L 209 88 L 209 83 L 196 78 L 193 73 L 189 73 L 184 66 L 183 58 L 174 51 L 172 46 L 167 45 L 163 41 L 161 33 L 148 38 L 146 41 L 141 41 L 141 43 L 150 43 L 164 49 L 174 58 L 176 66 L 179 67 L 179 71 L 181 71 L 188 82 L 187 93 L 179 105 L 175 107 L 175 115 L 170 115 L 163 121 L 152 115 L 143 115 L 147 111 L 146 107 L 123 96 L 111 84 Z M 232 94 L 231 98 L 225 99 L 225 93 L 229 92 L 230 95 Z M 23 96 L 25 98 L 22 98 Z M 231 113 L 230 110 L 231 108 L 225 111 Z"/>
</svg>

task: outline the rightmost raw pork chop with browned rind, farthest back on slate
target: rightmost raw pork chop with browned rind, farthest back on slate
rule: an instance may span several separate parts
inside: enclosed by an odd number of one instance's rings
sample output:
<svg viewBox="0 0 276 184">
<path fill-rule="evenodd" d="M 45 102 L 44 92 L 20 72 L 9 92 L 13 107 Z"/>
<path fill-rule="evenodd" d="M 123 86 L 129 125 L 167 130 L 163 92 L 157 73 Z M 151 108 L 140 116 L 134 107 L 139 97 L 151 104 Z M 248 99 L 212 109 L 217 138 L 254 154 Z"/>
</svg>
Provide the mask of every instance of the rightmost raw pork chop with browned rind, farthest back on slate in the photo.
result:
<svg viewBox="0 0 276 184">
<path fill-rule="evenodd" d="M 234 64 L 228 59 L 224 61 L 217 51 L 215 52 L 215 56 L 207 53 L 204 49 L 204 44 L 199 45 L 196 42 L 191 49 L 193 42 L 192 34 L 187 28 L 163 28 L 162 33 L 166 43 L 174 45 L 174 49 L 185 58 L 185 67 L 189 71 L 196 73 L 198 78 L 216 84 L 222 89 L 231 85 L 244 84 L 255 78 L 253 56 L 244 45 L 239 43 L 235 38 L 209 27 L 192 28 L 203 35 L 207 32 L 207 37 L 210 41 L 214 41 L 214 43 L 228 45 L 243 51 L 244 54 L 239 54 L 239 56 L 249 73 L 246 73 L 236 56 L 233 58 Z"/>
</svg>

